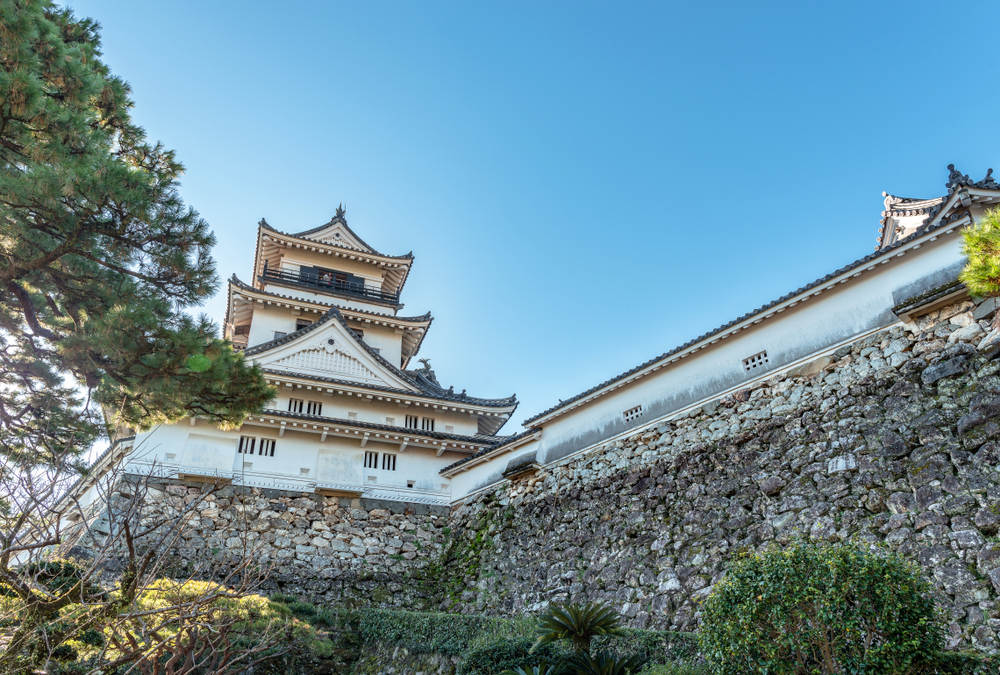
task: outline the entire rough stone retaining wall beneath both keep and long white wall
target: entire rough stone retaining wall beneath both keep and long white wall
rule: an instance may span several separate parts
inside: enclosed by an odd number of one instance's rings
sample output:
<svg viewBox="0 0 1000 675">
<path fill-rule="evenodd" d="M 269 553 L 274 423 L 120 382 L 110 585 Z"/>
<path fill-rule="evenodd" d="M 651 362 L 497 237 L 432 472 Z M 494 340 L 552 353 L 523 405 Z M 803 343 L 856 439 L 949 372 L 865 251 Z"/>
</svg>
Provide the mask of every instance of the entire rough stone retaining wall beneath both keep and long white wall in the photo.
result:
<svg viewBox="0 0 1000 675">
<path fill-rule="evenodd" d="M 183 574 L 246 537 L 274 565 L 269 590 L 312 602 L 513 615 L 606 600 L 633 627 L 694 630 L 734 555 L 853 538 L 926 569 L 950 647 L 995 652 L 1000 342 L 973 309 L 865 338 L 450 514 L 227 487 L 169 554 Z M 154 485 L 150 515 L 177 515 L 200 491 Z"/>
</svg>

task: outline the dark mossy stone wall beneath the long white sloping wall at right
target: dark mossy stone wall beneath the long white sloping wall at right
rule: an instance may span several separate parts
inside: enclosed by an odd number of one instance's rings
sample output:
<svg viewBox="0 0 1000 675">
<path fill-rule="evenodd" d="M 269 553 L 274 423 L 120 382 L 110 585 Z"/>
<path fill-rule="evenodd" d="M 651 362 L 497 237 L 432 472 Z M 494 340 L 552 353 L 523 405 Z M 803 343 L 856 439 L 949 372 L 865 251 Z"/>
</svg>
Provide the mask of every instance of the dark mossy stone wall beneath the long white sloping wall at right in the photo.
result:
<svg viewBox="0 0 1000 675">
<path fill-rule="evenodd" d="M 442 607 L 607 600 L 634 627 L 693 630 L 737 553 L 856 538 L 924 566 L 949 646 L 995 651 L 1000 343 L 984 344 L 989 325 L 972 309 L 868 337 L 470 499 L 452 513 Z"/>
</svg>

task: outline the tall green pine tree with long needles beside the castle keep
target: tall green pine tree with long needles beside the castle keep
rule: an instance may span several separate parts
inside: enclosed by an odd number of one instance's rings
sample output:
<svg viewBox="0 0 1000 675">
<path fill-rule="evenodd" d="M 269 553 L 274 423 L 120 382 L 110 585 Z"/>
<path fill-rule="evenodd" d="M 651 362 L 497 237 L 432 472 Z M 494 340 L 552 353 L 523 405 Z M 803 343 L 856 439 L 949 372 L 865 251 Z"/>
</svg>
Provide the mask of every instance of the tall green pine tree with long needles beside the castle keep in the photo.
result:
<svg viewBox="0 0 1000 675">
<path fill-rule="evenodd" d="M 100 56 L 96 22 L 0 0 L 0 457 L 21 465 L 92 444 L 85 397 L 141 429 L 233 427 L 273 396 L 187 314 L 219 286 L 215 238 Z"/>
</svg>

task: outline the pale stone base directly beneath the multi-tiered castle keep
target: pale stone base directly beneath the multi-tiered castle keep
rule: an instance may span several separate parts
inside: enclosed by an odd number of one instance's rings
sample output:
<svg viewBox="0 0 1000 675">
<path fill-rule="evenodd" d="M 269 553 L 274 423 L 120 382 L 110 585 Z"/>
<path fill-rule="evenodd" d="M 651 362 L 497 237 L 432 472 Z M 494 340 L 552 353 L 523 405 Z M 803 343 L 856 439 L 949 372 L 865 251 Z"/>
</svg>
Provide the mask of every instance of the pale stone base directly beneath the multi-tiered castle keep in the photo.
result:
<svg viewBox="0 0 1000 675">
<path fill-rule="evenodd" d="M 439 602 L 423 579 L 443 549 L 446 507 L 232 486 L 204 496 L 204 487 L 167 480 L 146 489 L 150 520 L 177 517 L 203 499 L 165 551 L 176 576 L 206 563 L 224 569 L 250 549 L 271 568 L 268 592 L 341 607 Z"/>
</svg>

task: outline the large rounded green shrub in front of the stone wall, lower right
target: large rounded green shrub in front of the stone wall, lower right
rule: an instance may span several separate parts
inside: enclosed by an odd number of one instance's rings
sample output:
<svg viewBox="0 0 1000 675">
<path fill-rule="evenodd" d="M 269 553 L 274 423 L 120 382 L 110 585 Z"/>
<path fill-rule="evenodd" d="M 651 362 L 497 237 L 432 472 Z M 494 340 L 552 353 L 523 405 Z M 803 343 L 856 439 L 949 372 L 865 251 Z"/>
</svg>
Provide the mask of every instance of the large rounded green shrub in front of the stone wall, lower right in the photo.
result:
<svg viewBox="0 0 1000 675">
<path fill-rule="evenodd" d="M 918 671 L 944 628 L 931 585 L 902 557 L 799 541 L 733 564 L 702 605 L 702 652 L 720 675 Z"/>
</svg>

